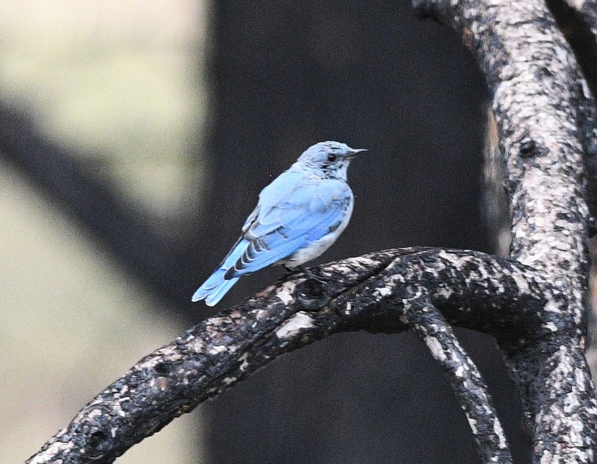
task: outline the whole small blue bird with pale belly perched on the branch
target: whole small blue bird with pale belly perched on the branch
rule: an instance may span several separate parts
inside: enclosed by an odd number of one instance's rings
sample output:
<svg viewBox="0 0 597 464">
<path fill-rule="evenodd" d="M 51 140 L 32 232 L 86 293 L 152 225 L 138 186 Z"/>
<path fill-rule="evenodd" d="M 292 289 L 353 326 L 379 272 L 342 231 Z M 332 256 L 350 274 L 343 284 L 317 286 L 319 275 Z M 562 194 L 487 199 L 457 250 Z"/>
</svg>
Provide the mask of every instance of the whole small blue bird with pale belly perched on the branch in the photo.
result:
<svg viewBox="0 0 597 464">
<path fill-rule="evenodd" d="M 270 264 L 296 268 L 327 250 L 350 220 L 354 196 L 346 171 L 363 151 L 329 141 L 305 150 L 261 190 L 241 238 L 192 300 L 214 306 L 242 275 Z"/>
</svg>

